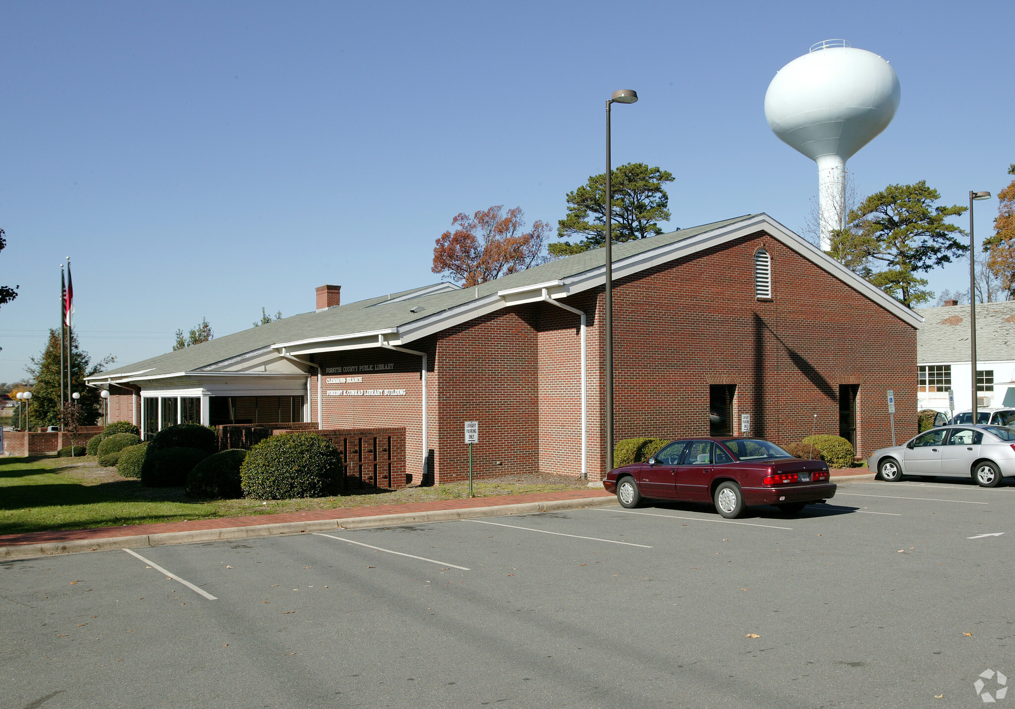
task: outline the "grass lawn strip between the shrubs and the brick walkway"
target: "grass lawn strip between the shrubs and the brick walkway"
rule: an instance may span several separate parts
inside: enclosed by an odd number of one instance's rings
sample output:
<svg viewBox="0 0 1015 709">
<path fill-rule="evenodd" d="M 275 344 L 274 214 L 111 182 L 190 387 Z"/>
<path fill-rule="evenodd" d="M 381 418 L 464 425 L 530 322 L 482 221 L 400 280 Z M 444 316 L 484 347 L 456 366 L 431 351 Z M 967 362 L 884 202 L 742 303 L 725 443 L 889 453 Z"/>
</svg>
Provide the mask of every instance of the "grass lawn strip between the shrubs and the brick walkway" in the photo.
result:
<svg viewBox="0 0 1015 709">
<path fill-rule="evenodd" d="M 473 485 L 477 497 L 581 489 L 587 489 L 582 481 L 549 475 L 505 476 Z M 360 494 L 267 503 L 195 500 L 183 488 L 141 487 L 114 468 L 99 468 L 94 457 L 0 457 L 0 535 L 449 500 L 466 497 L 468 484 L 355 492 Z"/>
</svg>

